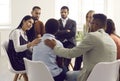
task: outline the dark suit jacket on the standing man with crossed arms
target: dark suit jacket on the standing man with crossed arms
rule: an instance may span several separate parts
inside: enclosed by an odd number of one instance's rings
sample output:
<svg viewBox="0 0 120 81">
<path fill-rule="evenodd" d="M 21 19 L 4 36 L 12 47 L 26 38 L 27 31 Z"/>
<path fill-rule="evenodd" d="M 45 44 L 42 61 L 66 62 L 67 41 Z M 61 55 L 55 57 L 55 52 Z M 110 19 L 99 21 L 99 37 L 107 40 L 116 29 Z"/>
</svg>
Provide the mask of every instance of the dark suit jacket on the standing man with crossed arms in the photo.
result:
<svg viewBox="0 0 120 81">
<path fill-rule="evenodd" d="M 62 20 L 58 20 L 60 23 L 59 31 L 56 33 L 56 38 L 60 40 L 64 47 L 66 48 L 72 48 L 76 45 L 75 41 L 75 34 L 76 34 L 76 22 L 72 19 L 67 20 L 65 27 L 63 27 Z M 70 32 L 67 32 L 67 30 L 70 30 Z M 65 44 L 65 41 L 67 44 Z"/>
</svg>

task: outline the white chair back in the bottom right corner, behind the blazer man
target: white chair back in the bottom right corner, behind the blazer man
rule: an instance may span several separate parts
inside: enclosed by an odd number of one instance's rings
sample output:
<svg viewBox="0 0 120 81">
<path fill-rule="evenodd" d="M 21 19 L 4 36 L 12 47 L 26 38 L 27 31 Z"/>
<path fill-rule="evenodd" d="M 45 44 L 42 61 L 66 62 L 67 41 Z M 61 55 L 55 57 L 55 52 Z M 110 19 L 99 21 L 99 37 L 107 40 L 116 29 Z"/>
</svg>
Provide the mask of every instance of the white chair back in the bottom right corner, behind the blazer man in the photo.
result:
<svg viewBox="0 0 120 81">
<path fill-rule="evenodd" d="M 120 60 L 113 62 L 100 62 L 96 64 L 87 81 L 117 81 Z"/>
</svg>

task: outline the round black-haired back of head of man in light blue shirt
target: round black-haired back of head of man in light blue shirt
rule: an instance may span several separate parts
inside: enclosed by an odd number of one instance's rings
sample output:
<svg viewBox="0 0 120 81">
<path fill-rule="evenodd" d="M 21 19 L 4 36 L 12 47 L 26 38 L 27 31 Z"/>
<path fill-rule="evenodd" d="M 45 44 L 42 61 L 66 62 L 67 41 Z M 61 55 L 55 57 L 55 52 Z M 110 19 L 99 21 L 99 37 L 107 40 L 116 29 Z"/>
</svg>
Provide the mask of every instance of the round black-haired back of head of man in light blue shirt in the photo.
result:
<svg viewBox="0 0 120 81">
<path fill-rule="evenodd" d="M 45 24 L 45 31 L 46 31 L 46 33 L 54 35 L 58 31 L 58 27 L 59 27 L 58 20 L 56 20 L 54 18 L 50 18 L 47 20 L 47 22 Z"/>
</svg>

